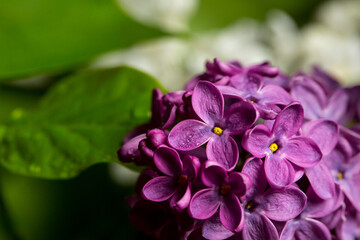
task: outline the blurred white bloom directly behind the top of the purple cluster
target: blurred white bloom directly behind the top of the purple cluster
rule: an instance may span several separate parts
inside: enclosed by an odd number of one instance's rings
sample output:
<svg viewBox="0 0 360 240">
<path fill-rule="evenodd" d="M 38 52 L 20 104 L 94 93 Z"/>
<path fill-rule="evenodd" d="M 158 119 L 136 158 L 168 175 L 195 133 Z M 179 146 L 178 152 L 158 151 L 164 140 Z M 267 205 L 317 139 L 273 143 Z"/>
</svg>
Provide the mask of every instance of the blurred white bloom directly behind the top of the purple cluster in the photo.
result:
<svg viewBox="0 0 360 240">
<path fill-rule="evenodd" d="M 214 57 L 223 61 L 239 60 L 246 65 L 272 59 L 272 51 L 262 43 L 262 37 L 262 25 L 251 19 L 197 35 L 189 41 L 185 68 L 192 76 L 203 72 L 205 60 Z"/>
</svg>

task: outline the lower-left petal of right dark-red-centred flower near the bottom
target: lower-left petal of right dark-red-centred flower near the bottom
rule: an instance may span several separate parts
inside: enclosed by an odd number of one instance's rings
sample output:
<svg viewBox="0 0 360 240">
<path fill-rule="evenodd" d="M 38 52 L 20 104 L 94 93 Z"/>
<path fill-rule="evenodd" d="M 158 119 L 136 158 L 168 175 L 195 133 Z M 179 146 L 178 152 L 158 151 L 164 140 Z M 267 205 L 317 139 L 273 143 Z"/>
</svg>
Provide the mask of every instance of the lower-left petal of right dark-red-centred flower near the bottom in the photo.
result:
<svg viewBox="0 0 360 240">
<path fill-rule="evenodd" d="M 203 189 L 192 197 L 189 213 L 195 219 L 208 219 L 215 214 L 219 205 L 220 195 L 212 189 Z"/>
</svg>

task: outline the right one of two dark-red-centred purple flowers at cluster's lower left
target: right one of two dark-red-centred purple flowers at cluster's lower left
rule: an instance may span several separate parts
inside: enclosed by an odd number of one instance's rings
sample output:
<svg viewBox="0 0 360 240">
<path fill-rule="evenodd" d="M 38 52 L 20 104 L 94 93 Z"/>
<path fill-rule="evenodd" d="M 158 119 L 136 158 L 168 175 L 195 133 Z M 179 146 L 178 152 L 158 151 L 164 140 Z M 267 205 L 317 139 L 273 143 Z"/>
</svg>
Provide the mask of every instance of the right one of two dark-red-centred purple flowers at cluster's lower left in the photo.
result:
<svg viewBox="0 0 360 240">
<path fill-rule="evenodd" d="M 239 196 L 251 185 L 248 176 L 232 172 L 228 174 L 221 166 L 204 168 L 201 179 L 208 187 L 195 193 L 191 199 L 189 213 L 195 219 L 208 219 L 219 209 L 222 225 L 230 231 L 239 231 L 244 224 Z"/>
</svg>

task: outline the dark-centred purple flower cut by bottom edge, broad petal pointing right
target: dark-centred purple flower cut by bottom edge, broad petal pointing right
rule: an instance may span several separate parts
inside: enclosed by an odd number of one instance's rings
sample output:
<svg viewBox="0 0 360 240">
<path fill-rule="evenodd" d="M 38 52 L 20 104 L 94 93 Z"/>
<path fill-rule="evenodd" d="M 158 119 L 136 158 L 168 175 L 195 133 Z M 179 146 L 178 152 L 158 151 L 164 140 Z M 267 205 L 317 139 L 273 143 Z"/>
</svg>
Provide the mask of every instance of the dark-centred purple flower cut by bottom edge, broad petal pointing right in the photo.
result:
<svg viewBox="0 0 360 240">
<path fill-rule="evenodd" d="M 266 190 L 263 162 L 258 158 L 248 159 L 242 172 L 250 177 L 253 184 L 241 198 L 245 215 L 244 229 L 231 239 L 279 239 L 272 220 L 288 221 L 300 214 L 305 207 L 305 194 L 295 186 Z"/>
</svg>

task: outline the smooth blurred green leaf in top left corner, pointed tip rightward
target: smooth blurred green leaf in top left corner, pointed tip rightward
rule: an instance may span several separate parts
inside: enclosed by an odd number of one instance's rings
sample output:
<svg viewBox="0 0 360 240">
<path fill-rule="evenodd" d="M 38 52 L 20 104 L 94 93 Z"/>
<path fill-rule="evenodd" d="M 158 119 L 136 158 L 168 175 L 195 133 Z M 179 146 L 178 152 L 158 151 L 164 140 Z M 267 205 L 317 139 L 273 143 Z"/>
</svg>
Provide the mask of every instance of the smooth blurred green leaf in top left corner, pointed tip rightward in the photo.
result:
<svg viewBox="0 0 360 240">
<path fill-rule="evenodd" d="M 163 35 L 113 0 L 0 0 L 0 81 L 58 73 Z"/>
</svg>

